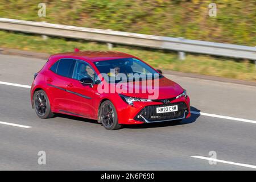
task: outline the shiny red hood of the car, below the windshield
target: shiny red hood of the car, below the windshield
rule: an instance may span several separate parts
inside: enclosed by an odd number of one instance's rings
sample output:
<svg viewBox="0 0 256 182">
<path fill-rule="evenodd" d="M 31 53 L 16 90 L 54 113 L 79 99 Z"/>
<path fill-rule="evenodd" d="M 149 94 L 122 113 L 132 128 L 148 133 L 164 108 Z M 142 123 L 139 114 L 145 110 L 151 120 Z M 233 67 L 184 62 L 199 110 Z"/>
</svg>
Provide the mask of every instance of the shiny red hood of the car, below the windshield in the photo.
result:
<svg viewBox="0 0 256 182">
<path fill-rule="evenodd" d="M 116 91 L 122 90 L 125 96 L 139 97 L 148 99 L 164 99 L 173 98 L 183 92 L 183 88 L 176 82 L 169 80 L 166 77 L 148 81 L 134 81 L 134 82 L 122 82 L 114 84 Z M 150 96 L 150 97 L 149 97 Z"/>
</svg>

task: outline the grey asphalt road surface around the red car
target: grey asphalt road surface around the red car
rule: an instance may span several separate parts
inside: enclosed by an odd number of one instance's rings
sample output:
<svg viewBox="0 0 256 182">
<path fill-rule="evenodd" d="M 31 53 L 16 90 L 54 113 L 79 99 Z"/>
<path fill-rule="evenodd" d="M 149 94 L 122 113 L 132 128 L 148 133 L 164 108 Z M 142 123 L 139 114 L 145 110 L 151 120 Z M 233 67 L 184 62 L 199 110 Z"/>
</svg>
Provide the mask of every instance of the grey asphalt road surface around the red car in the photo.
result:
<svg viewBox="0 0 256 182">
<path fill-rule="evenodd" d="M 31 85 L 45 62 L 0 55 L 0 82 Z M 30 89 L 0 84 L 0 122 L 31 126 L 0 123 L 0 170 L 255 170 L 256 122 L 242 119 L 256 121 L 256 87 L 166 76 L 187 89 L 192 110 L 216 117 L 192 114 L 180 125 L 108 131 L 96 121 L 67 115 L 39 119 Z M 46 152 L 45 165 L 38 164 L 39 151 Z M 210 158 L 210 151 L 224 162 L 191 157 Z"/>
</svg>

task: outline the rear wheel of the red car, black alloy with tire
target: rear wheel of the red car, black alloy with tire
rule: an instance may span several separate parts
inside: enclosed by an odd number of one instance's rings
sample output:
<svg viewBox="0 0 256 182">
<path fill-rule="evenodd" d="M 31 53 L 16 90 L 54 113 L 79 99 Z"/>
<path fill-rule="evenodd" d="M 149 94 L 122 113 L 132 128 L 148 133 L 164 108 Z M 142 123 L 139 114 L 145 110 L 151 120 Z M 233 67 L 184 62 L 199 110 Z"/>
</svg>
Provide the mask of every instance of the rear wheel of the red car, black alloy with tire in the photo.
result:
<svg viewBox="0 0 256 182">
<path fill-rule="evenodd" d="M 49 104 L 49 99 L 47 97 L 46 92 L 44 90 L 38 90 L 34 93 L 34 109 L 36 115 L 39 118 L 46 119 L 52 118 L 54 114 L 51 111 L 51 106 Z"/>
</svg>

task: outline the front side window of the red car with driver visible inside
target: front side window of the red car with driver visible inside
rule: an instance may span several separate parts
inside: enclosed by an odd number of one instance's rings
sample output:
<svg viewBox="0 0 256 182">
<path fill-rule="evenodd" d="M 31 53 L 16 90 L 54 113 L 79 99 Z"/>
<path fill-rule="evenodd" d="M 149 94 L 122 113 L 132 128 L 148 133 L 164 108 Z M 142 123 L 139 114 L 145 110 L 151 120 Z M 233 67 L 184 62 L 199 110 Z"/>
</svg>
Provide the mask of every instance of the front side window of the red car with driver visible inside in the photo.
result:
<svg viewBox="0 0 256 182">
<path fill-rule="evenodd" d="M 97 76 L 93 71 L 92 67 L 84 61 L 76 61 L 74 72 L 72 78 L 76 80 L 81 80 L 81 78 L 92 78 L 94 80 L 94 76 Z"/>
</svg>

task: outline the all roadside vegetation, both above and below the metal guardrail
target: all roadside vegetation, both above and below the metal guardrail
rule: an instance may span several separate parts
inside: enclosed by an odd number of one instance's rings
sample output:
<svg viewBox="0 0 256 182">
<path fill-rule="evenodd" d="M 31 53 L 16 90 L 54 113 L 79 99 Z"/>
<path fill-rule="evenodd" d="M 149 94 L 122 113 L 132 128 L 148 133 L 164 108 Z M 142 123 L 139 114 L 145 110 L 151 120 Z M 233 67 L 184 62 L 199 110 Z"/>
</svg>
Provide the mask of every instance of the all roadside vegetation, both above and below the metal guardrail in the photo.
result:
<svg viewBox="0 0 256 182">
<path fill-rule="evenodd" d="M 46 17 L 38 4 L 47 5 Z M 208 15 L 208 0 L 1 0 L 0 17 L 141 34 L 183 37 L 256 46 L 256 1 L 215 0 L 217 16 Z M 106 44 L 0 31 L 0 47 L 58 53 L 106 50 Z M 252 61 L 115 45 L 114 51 L 141 57 L 156 68 L 256 81 Z"/>
</svg>

